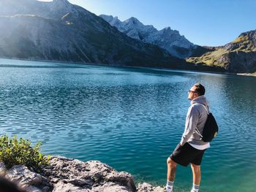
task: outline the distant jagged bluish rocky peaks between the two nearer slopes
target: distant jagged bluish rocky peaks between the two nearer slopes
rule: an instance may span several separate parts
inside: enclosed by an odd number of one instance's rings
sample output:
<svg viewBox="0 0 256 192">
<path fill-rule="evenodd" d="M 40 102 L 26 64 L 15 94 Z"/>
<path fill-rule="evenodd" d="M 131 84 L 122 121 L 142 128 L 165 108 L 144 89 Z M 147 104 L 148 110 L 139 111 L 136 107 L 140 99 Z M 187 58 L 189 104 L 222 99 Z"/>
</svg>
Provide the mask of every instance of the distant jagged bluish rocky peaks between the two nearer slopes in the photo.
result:
<svg viewBox="0 0 256 192">
<path fill-rule="evenodd" d="M 127 36 L 153 45 L 158 45 L 178 58 L 187 58 L 208 51 L 204 47 L 189 42 L 189 40 L 181 36 L 178 31 L 172 30 L 170 27 L 158 31 L 154 26 L 143 25 L 137 18 L 129 18 L 121 22 L 117 17 L 114 18 L 111 15 L 99 16 L 108 21 L 111 26 L 115 26 L 118 31 L 127 34 Z"/>
</svg>

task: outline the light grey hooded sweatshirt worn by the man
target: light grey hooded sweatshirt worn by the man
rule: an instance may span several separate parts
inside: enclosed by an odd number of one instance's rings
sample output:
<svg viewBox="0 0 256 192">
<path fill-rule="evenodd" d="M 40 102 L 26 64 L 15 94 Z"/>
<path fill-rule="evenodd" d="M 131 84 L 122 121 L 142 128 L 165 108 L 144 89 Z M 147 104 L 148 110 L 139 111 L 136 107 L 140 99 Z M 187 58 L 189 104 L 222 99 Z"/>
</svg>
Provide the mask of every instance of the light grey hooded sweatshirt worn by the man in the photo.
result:
<svg viewBox="0 0 256 192">
<path fill-rule="evenodd" d="M 181 145 L 184 145 L 186 142 L 194 145 L 206 144 L 206 142 L 200 139 L 201 137 L 197 134 L 197 131 L 195 131 L 195 128 L 197 128 L 200 134 L 203 134 L 203 127 L 206 123 L 207 112 L 202 104 L 208 109 L 208 101 L 205 96 L 198 96 L 191 101 L 191 106 L 187 111 L 184 134 L 181 137 Z"/>
</svg>

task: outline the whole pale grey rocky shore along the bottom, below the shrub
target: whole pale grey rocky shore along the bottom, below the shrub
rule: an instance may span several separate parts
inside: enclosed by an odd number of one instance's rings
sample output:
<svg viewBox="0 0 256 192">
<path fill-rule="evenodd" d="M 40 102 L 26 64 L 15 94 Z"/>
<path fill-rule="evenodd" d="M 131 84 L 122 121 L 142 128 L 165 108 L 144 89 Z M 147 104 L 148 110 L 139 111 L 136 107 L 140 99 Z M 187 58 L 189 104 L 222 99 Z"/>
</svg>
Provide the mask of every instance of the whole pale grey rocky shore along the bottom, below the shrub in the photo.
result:
<svg viewBox="0 0 256 192">
<path fill-rule="evenodd" d="M 161 187 L 148 183 L 135 186 L 127 172 L 115 169 L 99 161 L 82 162 L 64 157 L 50 158 L 50 165 L 41 173 L 16 165 L 11 169 L 0 162 L 0 175 L 27 192 L 163 192 Z"/>
</svg>

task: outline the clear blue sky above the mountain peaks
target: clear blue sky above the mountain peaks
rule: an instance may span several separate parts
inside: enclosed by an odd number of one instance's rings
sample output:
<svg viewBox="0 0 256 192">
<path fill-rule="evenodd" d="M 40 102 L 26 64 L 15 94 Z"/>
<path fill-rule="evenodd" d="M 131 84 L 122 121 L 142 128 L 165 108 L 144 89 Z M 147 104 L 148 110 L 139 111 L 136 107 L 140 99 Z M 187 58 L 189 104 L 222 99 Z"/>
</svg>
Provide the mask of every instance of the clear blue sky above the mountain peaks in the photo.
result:
<svg viewBox="0 0 256 192">
<path fill-rule="evenodd" d="M 256 29 L 255 0 L 69 0 L 96 15 L 170 26 L 197 45 L 218 46 Z"/>
</svg>

